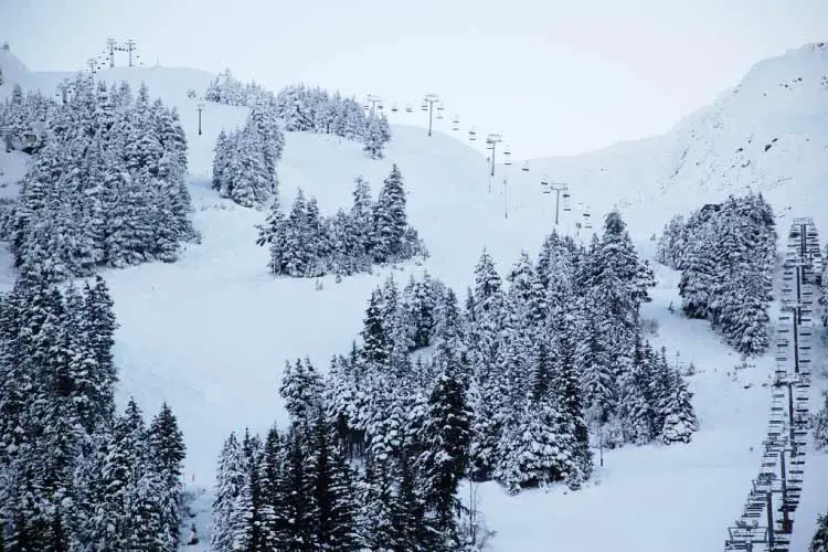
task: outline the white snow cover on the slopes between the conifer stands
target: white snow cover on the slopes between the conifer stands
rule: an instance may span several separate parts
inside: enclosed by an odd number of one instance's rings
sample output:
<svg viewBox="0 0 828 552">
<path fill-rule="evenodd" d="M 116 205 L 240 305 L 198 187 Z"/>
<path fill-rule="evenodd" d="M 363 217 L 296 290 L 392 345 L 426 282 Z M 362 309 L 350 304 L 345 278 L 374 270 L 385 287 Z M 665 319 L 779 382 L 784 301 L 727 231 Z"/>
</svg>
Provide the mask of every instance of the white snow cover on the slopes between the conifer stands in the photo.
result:
<svg viewBox="0 0 828 552">
<path fill-rule="evenodd" d="M 72 75 L 31 73 L 4 52 L 0 66 L 10 82 L 47 93 Z M 267 274 L 267 252 L 255 245 L 253 227 L 264 220 L 264 211 L 240 208 L 210 190 L 215 138 L 221 128 L 243 124 L 247 110 L 208 104 L 199 136 L 197 100 L 187 97 L 187 89 L 203 93 L 212 75 L 167 67 L 104 71 L 102 78 L 126 78 L 134 89 L 146 82 L 152 96 L 178 106 L 190 147 L 194 221 L 202 233 L 201 243 L 189 246 L 174 264 L 104 273 L 120 325 L 115 344 L 119 402 L 135 396 L 151 413 L 167 401 L 187 438 L 187 480 L 210 487 L 230 431 L 250 424 L 264 432 L 274 421 L 286 422 L 276 392 L 285 361 L 309 354 L 325 369 L 332 354 L 348 351 L 372 288 L 388 274 L 404 282 L 408 273 L 427 268 L 463 295 L 484 247 L 501 272 L 518 259 L 521 248 L 534 255 L 554 220 L 554 194 L 540 193 L 544 176 L 570 184 L 573 204 L 591 209 L 595 229 L 608 209 L 622 209 L 646 254 L 655 247 L 650 235 L 673 213 L 689 213 L 745 187 L 762 191 L 774 205 L 781 234 L 789 216 L 808 215 L 825 238 L 825 75 L 828 49 L 806 45 L 757 64 L 739 86 L 667 135 L 572 158 L 530 160 L 530 172 L 521 171 L 519 161 L 498 166 L 491 182 L 486 158 L 439 130 L 428 138 L 420 127 L 393 125 L 386 157 L 379 161 L 368 159 L 359 144 L 289 134 L 278 166 L 283 204 L 301 187 L 330 214 L 350 205 L 358 174 L 368 179 L 375 195 L 396 162 L 408 193 L 410 222 L 432 253 L 422 267 L 384 267 L 340 284 L 320 278 L 323 289 L 316 290 L 312 279 L 274 279 Z M 0 98 L 9 89 L 0 88 Z M 765 151 L 767 144 L 772 146 Z M 13 190 L 10 182 L 22 176 L 24 159 L 0 153 L 6 172 L 0 185 L 9 183 L 3 190 Z M 561 227 L 574 232 L 580 216 L 577 209 L 562 211 Z M 585 234 L 582 230 L 580 237 L 588 237 Z M 8 288 L 13 282 L 8 254 L 0 261 L 6 268 L 0 285 Z M 677 309 L 680 305 L 678 275 L 659 267 L 658 279 L 644 316 L 657 322 L 651 339 L 667 347 L 668 358 L 679 351 L 682 363 L 697 367 L 690 381 L 699 433 L 688 445 L 605 452 L 604 468 L 577 492 L 553 487 L 510 497 L 493 484 L 481 486 L 482 511 L 498 532 L 496 550 L 721 550 L 760 465 L 769 406 L 763 383 L 773 359 L 760 358 L 755 368 L 734 375 L 737 354 L 707 322 L 669 311 L 670 304 Z M 811 404 L 817 404 L 816 395 Z M 826 488 L 828 457 L 811 455 L 792 550 L 805 550 L 816 513 L 828 507 Z M 210 500 L 209 492 L 197 499 L 202 543 L 209 540 L 204 523 Z"/>
</svg>

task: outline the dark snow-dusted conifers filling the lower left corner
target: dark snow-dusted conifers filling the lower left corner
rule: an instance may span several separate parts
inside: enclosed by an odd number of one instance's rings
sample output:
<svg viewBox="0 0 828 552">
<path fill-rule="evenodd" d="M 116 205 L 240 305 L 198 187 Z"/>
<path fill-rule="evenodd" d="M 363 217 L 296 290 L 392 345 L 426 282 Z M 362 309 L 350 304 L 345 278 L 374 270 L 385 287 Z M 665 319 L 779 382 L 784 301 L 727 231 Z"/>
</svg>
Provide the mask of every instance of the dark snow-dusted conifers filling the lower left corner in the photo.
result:
<svg viewBox="0 0 828 552">
<path fill-rule="evenodd" d="M 115 328 L 99 276 L 0 296 L 0 550 L 178 550 L 183 436 L 166 404 L 116 414 Z"/>
</svg>

